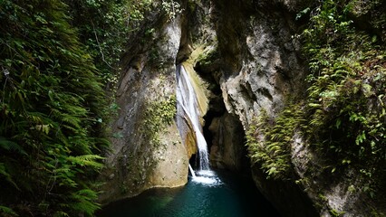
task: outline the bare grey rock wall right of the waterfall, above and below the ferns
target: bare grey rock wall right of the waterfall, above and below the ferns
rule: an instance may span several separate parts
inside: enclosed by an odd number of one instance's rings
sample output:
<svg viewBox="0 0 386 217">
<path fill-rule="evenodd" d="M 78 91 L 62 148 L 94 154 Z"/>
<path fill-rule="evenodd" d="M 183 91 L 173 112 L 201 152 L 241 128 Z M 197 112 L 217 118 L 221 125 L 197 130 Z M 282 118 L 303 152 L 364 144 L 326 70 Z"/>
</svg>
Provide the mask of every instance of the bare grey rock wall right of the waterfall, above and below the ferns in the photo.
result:
<svg viewBox="0 0 386 217">
<path fill-rule="evenodd" d="M 216 69 L 211 72 L 212 79 L 221 89 L 227 112 L 236 115 L 245 130 L 262 110 L 275 119 L 286 99 L 301 99 L 307 89 L 304 76 L 308 69 L 300 56 L 301 44 L 293 37 L 299 27 L 294 17 L 312 1 L 212 2 L 218 55 L 206 69 Z M 217 122 L 215 118 L 214 127 Z M 227 139 L 230 137 L 219 138 L 217 143 Z M 260 165 L 252 167 L 256 186 L 279 212 L 284 216 L 332 216 L 338 212 L 365 216 L 371 212 L 369 207 L 375 206 L 366 203 L 361 192 L 352 190 L 361 182 L 358 172 L 324 173 L 323 159 L 307 141 L 299 135 L 293 141 L 294 180 L 267 180 Z M 211 157 L 216 164 L 225 164 L 227 155 L 220 155 L 217 146 L 213 149 Z"/>
</svg>

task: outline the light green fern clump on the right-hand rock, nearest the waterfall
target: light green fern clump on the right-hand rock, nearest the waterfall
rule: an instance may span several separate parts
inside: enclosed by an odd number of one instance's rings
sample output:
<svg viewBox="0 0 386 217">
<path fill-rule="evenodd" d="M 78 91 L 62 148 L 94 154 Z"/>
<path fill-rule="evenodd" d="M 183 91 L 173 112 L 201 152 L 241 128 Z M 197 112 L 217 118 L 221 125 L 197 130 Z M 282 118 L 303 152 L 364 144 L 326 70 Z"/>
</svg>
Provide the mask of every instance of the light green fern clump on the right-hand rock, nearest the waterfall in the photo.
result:
<svg viewBox="0 0 386 217">
<path fill-rule="evenodd" d="M 253 163 L 259 163 L 267 178 L 291 179 L 290 146 L 302 119 L 299 106 L 285 109 L 269 118 L 265 110 L 246 132 L 246 145 Z"/>
</svg>

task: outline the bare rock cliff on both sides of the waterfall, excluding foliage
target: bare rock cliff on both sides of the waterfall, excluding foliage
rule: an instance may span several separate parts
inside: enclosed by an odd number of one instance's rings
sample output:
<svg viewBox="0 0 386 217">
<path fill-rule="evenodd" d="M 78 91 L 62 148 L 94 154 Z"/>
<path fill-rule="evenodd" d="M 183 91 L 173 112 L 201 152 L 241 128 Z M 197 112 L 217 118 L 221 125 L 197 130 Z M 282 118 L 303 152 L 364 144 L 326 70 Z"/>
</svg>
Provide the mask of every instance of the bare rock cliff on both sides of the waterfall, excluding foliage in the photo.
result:
<svg viewBox="0 0 386 217">
<path fill-rule="evenodd" d="M 134 49 L 138 52 L 126 57 L 118 90 L 121 110 L 113 124 L 118 137 L 112 139 L 113 153 L 107 160 L 110 170 L 105 173 L 107 192 L 102 199 L 186 183 L 188 157 L 195 146 L 181 144 L 170 118 L 159 122 L 166 129 L 147 127 L 147 120 L 153 122 L 154 115 L 163 117 L 174 103 L 170 96 L 175 95 L 175 65 L 179 63 L 194 66 L 205 89 L 204 128 L 210 140 L 211 165 L 249 168 L 245 137 L 255 118 L 264 111 L 275 120 L 287 99 L 304 96 L 308 68 L 300 57 L 301 44 L 293 36 L 298 28 L 294 17 L 312 2 L 181 2 L 183 12 L 157 25 L 150 39 L 154 42 L 139 45 Z M 148 135 L 149 129 L 156 137 Z M 291 141 L 292 180 L 269 180 L 261 165 L 251 167 L 256 186 L 284 216 L 366 215 L 366 205 L 358 205 L 364 203 L 361 193 L 350 188 L 355 171 L 341 177 L 318 172 L 323 160 L 307 141 L 296 134 Z"/>
</svg>

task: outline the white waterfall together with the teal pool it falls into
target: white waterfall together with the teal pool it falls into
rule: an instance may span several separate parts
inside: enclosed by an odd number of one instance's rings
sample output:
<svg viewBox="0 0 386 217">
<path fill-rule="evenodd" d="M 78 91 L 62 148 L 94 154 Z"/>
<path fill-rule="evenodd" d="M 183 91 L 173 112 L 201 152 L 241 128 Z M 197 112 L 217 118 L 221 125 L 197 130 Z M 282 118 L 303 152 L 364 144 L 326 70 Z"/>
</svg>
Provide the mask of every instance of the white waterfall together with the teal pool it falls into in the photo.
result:
<svg viewBox="0 0 386 217">
<path fill-rule="evenodd" d="M 191 179 L 184 187 L 152 189 L 127 201 L 111 203 L 97 216 L 233 217 L 266 216 L 266 213 L 279 216 L 261 194 L 255 194 L 256 185 L 252 180 L 247 183 L 239 179 L 242 177 L 240 175 L 217 175 L 215 171 L 209 170 L 207 142 L 199 123 L 198 99 L 188 73 L 182 66 L 178 66 L 177 80 L 177 125 L 184 144 L 188 142 L 188 134 L 196 137 L 199 170 L 195 172 L 191 165 L 188 165 Z M 256 209 L 256 205 L 259 208 Z"/>
</svg>

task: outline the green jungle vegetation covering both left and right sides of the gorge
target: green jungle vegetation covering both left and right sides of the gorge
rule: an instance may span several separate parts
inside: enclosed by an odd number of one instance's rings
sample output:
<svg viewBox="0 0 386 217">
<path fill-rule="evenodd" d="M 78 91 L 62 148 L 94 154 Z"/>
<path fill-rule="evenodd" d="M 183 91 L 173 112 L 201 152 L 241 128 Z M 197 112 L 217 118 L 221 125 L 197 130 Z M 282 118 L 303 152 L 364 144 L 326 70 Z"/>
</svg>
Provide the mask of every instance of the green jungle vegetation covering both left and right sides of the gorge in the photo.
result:
<svg viewBox="0 0 386 217">
<path fill-rule="evenodd" d="M 126 36 L 150 5 L 0 1 L 0 215 L 92 216 L 100 208 L 95 178 L 115 108 L 106 90 L 117 82 Z M 289 99 L 275 120 L 262 112 L 247 132 L 251 159 L 268 178 L 293 178 L 288 150 L 300 134 L 325 156 L 329 173 L 354 168 L 362 174 L 361 191 L 382 195 L 384 9 L 381 0 L 325 0 L 298 14 L 306 20 L 296 35 L 309 63 L 306 97 Z"/>
</svg>

